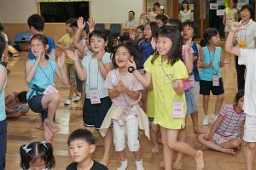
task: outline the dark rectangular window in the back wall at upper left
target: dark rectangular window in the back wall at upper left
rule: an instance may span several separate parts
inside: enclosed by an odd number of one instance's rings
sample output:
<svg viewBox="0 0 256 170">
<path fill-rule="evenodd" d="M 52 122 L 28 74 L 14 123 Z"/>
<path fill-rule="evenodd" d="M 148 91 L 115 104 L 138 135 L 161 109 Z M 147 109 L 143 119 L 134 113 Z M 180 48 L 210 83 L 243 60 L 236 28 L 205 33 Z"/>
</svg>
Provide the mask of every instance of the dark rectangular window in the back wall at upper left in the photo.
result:
<svg viewBox="0 0 256 170">
<path fill-rule="evenodd" d="M 89 2 L 40 3 L 41 15 L 45 22 L 66 22 L 69 18 L 89 18 Z"/>
</svg>

